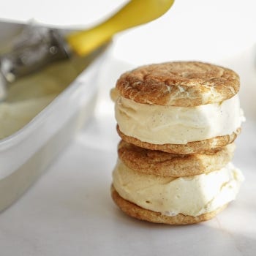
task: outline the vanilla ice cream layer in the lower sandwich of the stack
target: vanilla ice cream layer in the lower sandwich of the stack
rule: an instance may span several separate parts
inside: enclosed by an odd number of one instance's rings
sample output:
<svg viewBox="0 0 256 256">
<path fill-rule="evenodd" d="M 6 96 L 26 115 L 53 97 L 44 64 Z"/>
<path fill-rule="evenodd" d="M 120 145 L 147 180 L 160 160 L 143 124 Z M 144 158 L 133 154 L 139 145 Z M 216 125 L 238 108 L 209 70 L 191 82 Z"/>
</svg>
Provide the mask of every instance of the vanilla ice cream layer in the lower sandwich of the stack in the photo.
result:
<svg viewBox="0 0 256 256">
<path fill-rule="evenodd" d="M 196 217 L 236 198 L 244 176 L 229 163 L 220 170 L 180 178 L 138 173 L 118 160 L 113 186 L 126 200 L 166 216 Z"/>
</svg>

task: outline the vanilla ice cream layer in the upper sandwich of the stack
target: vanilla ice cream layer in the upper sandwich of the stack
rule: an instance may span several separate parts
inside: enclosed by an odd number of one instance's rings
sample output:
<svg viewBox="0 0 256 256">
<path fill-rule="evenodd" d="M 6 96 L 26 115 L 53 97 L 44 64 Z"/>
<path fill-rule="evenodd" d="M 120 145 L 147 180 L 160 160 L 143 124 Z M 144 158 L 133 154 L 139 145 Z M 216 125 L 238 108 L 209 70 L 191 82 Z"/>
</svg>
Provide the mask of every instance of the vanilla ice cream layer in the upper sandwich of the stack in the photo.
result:
<svg viewBox="0 0 256 256">
<path fill-rule="evenodd" d="M 118 96 L 116 121 L 124 135 L 153 144 L 186 144 L 231 135 L 244 121 L 239 98 L 196 107 L 148 105 Z"/>
</svg>

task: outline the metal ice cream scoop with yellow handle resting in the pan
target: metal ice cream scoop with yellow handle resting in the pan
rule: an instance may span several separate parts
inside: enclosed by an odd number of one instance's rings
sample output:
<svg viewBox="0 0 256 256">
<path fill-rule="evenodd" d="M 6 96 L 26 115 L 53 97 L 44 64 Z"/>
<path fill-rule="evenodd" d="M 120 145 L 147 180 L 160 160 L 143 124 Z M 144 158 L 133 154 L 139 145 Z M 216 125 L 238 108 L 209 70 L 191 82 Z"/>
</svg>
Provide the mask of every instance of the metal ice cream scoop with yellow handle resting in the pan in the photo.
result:
<svg viewBox="0 0 256 256">
<path fill-rule="evenodd" d="M 20 76 L 53 61 L 86 56 L 108 42 L 114 34 L 159 18 L 174 0 L 131 0 L 113 16 L 86 31 L 62 31 L 38 25 L 26 26 L 14 47 L 0 56 L 0 100 L 7 85 Z"/>
</svg>

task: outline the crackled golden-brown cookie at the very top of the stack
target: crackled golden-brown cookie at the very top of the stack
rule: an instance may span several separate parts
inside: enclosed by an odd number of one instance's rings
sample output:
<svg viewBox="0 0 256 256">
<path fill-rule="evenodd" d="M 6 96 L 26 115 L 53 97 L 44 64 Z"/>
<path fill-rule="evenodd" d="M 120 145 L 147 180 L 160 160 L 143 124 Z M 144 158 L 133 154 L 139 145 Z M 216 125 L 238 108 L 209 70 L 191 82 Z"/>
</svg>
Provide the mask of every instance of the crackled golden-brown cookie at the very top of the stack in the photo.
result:
<svg viewBox="0 0 256 256">
<path fill-rule="evenodd" d="M 239 84 L 236 72 L 225 67 L 176 61 L 125 72 L 116 89 L 138 103 L 192 107 L 230 99 L 238 93 Z"/>
</svg>

